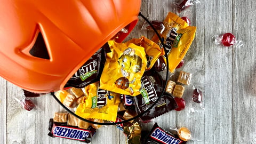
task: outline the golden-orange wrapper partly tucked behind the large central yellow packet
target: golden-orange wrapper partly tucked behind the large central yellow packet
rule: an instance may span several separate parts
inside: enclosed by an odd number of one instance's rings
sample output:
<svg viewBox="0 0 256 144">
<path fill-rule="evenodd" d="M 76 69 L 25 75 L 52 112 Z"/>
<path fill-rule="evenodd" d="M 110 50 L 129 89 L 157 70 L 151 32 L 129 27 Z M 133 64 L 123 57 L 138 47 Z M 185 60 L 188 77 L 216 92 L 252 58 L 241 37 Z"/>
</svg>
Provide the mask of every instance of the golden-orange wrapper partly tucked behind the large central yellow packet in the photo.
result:
<svg viewBox="0 0 256 144">
<path fill-rule="evenodd" d="M 154 66 L 156 60 L 161 55 L 164 55 L 164 49 L 161 49 L 158 44 L 146 38 L 145 36 L 141 36 L 141 38 L 133 38 L 127 43 L 134 43 L 136 45 L 144 47 L 147 57 L 146 70 L 151 69 Z"/>
</svg>

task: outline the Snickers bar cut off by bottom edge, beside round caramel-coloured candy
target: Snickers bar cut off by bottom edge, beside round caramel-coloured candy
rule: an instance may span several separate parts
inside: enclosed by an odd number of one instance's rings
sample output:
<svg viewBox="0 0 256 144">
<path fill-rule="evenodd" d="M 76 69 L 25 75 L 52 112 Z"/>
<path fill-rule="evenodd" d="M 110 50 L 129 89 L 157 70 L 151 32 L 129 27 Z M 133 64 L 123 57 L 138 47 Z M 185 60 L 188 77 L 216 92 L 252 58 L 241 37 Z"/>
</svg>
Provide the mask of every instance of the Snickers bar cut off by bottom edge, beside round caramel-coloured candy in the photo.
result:
<svg viewBox="0 0 256 144">
<path fill-rule="evenodd" d="M 146 133 L 146 132 L 143 132 Z M 151 131 L 146 135 L 141 135 L 142 137 L 142 144 L 145 143 L 164 143 L 164 144 L 185 144 L 186 141 L 182 141 L 179 139 L 178 135 L 172 134 L 168 131 L 163 130 L 161 127 L 158 126 L 157 123 L 154 124 Z"/>
</svg>

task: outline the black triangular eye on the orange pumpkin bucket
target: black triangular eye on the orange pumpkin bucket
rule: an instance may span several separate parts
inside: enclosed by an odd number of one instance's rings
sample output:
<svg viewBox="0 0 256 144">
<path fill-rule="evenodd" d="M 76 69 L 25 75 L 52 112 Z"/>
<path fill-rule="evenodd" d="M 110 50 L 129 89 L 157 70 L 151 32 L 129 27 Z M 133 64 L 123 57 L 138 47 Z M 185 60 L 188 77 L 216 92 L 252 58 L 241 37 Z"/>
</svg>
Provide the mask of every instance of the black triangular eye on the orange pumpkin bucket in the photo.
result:
<svg viewBox="0 0 256 144">
<path fill-rule="evenodd" d="M 49 60 L 49 53 L 47 51 L 43 35 L 41 33 L 38 33 L 36 42 L 32 49 L 29 51 L 31 55 L 34 57 L 42 58 L 42 59 L 47 59 Z"/>
</svg>

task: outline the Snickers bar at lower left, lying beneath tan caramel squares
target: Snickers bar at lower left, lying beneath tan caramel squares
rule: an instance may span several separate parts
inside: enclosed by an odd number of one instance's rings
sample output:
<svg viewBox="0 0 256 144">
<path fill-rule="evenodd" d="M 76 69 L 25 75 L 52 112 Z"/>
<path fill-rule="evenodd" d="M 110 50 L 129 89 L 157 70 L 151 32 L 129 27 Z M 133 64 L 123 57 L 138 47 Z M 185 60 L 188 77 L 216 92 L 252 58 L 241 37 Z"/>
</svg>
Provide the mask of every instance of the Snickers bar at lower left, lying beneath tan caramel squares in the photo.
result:
<svg viewBox="0 0 256 144">
<path fill-rule="evenodd" d="M 49 121 L 49 131 L 48 135 L 53 138 L 60 137 L 90 143 L 96 130 L 91 126 L 89 129 L 81 129 L 77 126 L 67 125 L 67 123 L 53 122 L 51 118 Z"/>
</svg>

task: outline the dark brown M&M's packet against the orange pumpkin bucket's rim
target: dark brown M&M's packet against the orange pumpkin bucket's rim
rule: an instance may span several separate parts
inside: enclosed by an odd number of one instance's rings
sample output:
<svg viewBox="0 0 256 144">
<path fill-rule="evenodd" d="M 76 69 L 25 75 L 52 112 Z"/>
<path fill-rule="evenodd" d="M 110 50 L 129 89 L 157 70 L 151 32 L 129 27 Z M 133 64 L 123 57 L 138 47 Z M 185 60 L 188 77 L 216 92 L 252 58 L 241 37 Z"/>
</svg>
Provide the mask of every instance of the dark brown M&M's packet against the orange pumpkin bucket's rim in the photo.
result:
<svg viewBox="0 0 256 144">
<path fill-rule="evenodd" d="M 83 88 L 89 84 L 100 81 L 100 76 L 106 61 L 106 52 L 110 48 L 106 43 L 79 68 L 76 73 L 68 80 L 65 87 Z"/>
</svg>

